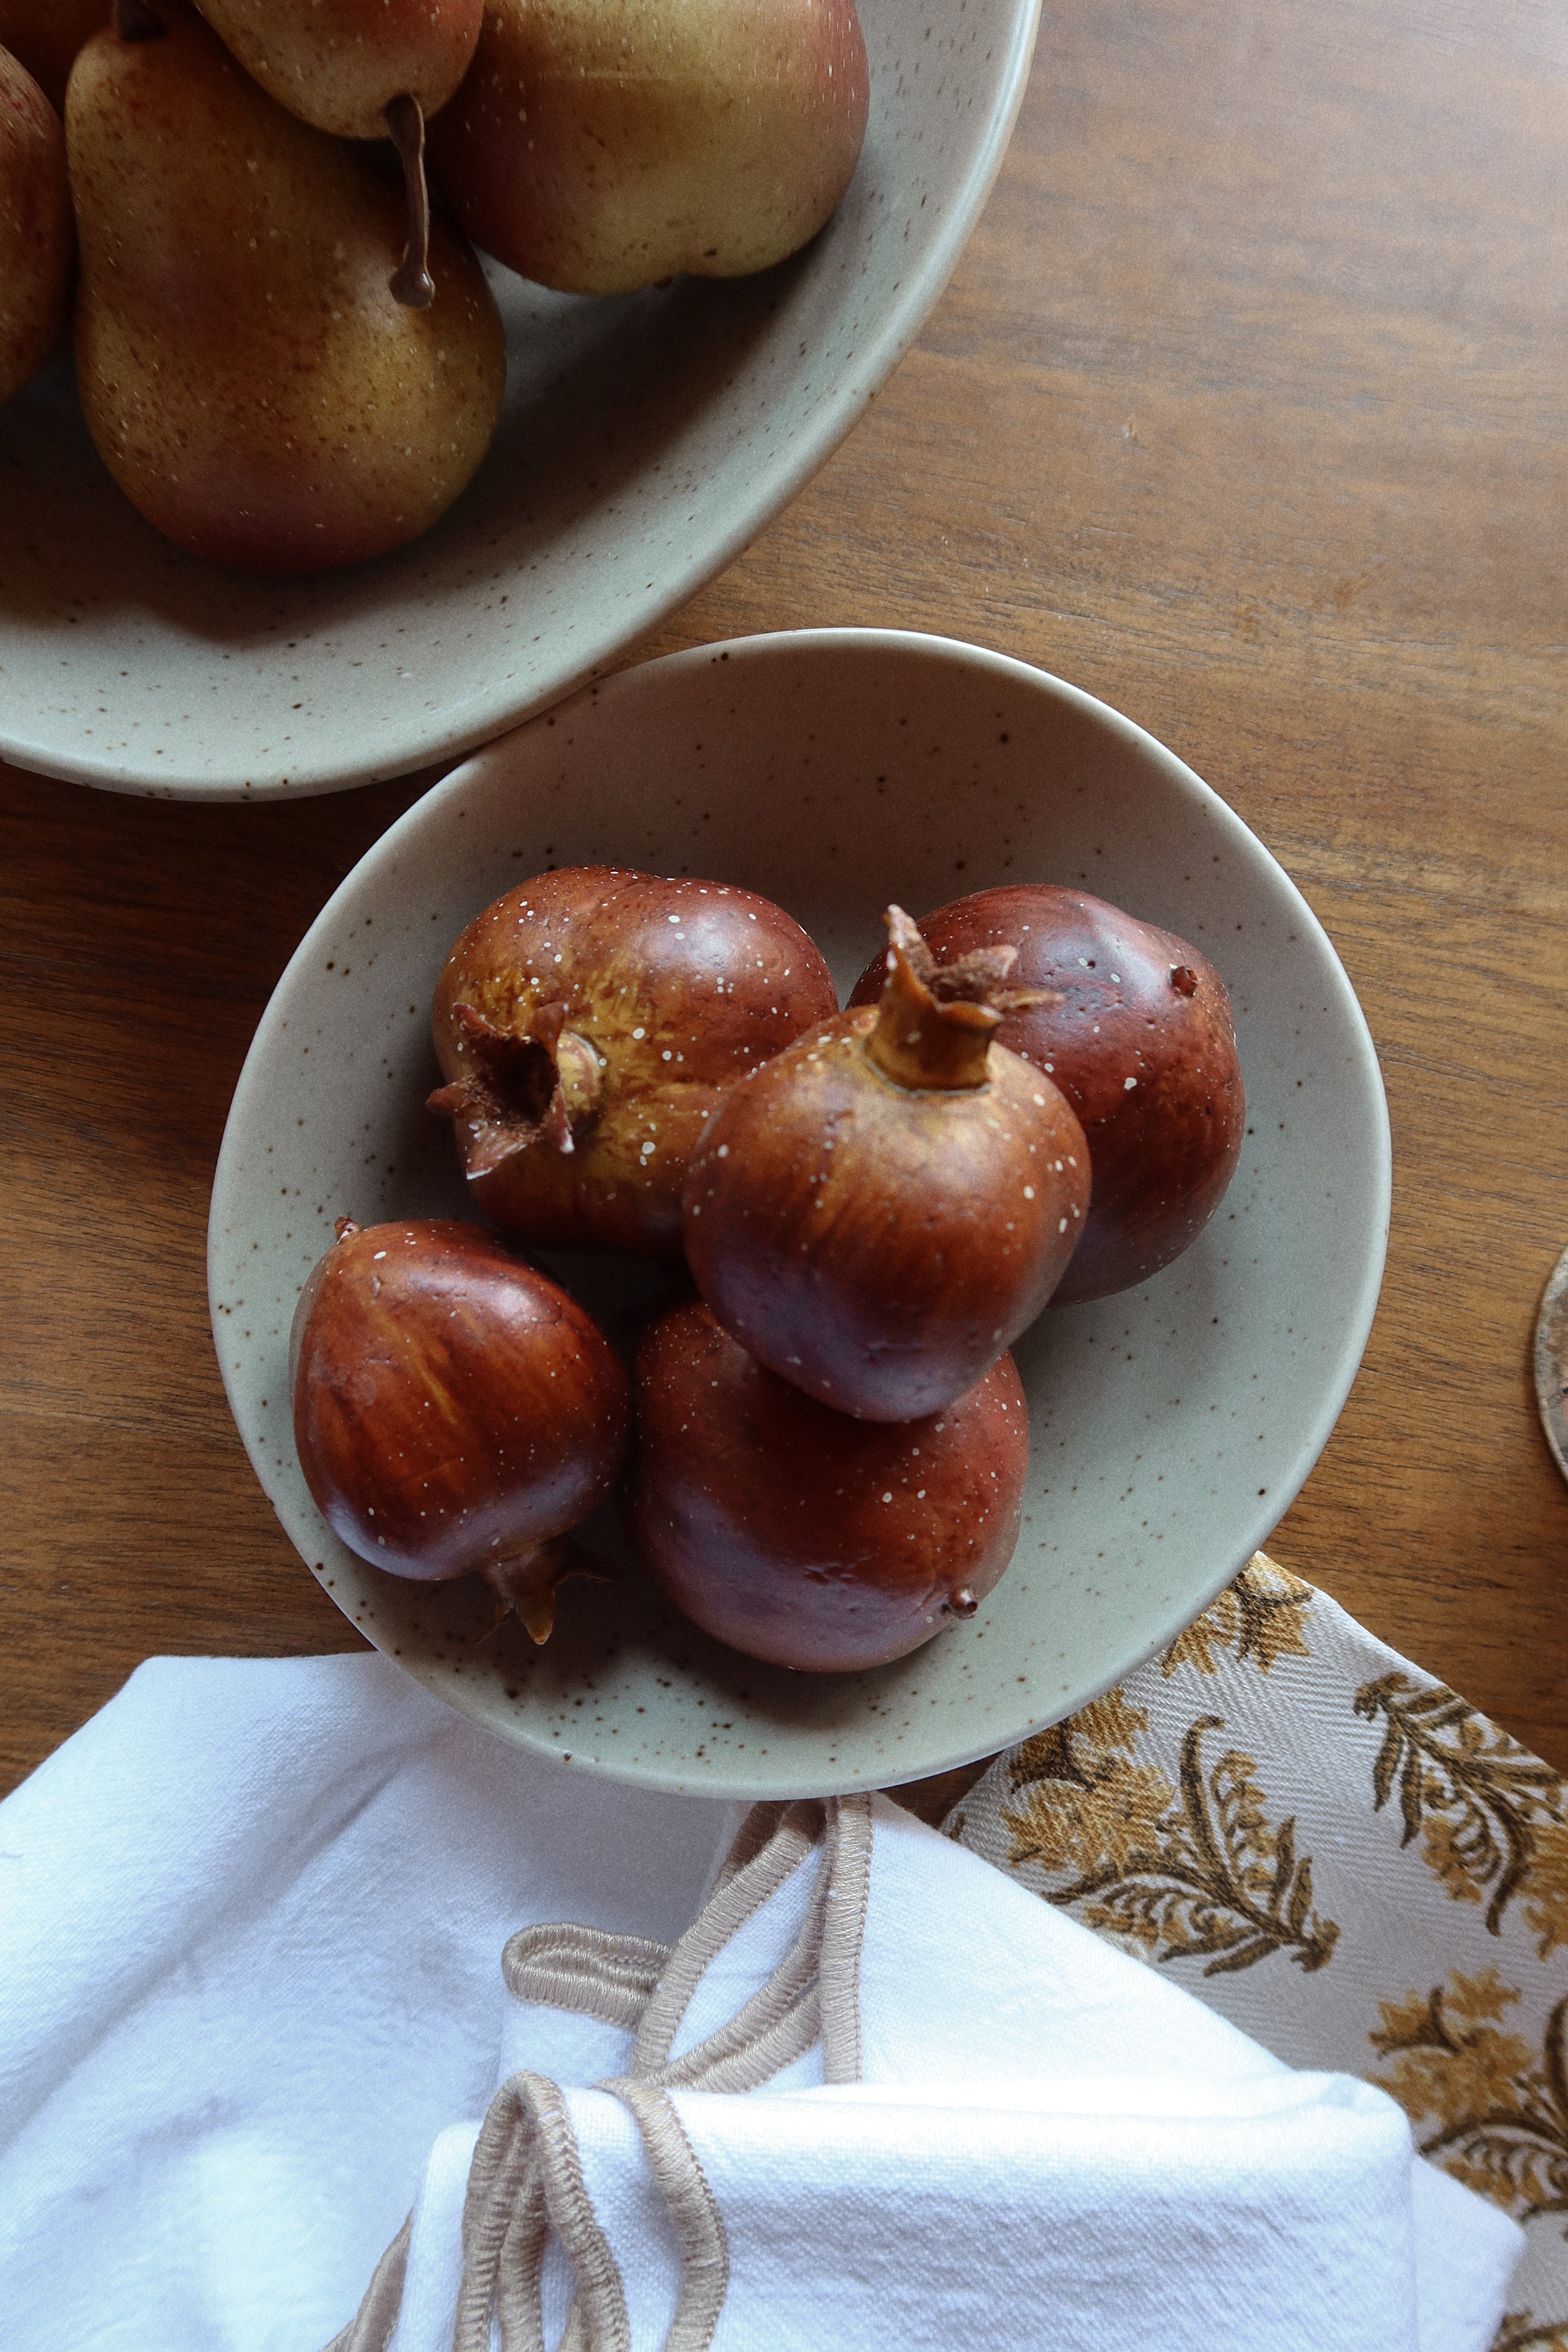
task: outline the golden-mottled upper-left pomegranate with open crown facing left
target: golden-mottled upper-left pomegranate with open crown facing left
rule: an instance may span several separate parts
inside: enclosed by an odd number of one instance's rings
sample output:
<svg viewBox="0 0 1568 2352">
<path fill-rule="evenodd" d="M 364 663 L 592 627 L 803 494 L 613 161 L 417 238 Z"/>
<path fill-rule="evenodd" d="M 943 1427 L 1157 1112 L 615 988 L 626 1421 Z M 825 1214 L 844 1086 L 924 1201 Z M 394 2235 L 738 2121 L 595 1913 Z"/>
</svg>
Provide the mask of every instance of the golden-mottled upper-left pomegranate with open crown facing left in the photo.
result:
<svg viewBox="0 0 1568 2352">
<path fill-rule="evenodd" d="M 839 1009 L 783 908 L 618 866 L 536 875 L 477 915 L 435 990 L 473 1202 L 555 1247 L 677 1254 L 682 1181 L 745 1070 Z"/>
</svg>

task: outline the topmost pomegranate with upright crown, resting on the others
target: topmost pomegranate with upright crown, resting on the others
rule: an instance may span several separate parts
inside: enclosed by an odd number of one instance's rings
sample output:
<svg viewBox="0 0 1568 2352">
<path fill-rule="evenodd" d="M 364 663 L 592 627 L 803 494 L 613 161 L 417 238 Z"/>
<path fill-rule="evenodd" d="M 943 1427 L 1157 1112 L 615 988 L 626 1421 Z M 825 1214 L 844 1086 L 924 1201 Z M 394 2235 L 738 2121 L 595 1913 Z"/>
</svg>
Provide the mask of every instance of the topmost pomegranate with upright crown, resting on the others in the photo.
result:
<svg viewBox="0 0 1568 2352">
<path fill-rule="evenodd" d="M 1084 1131 L 994 1044 L 1013 950 L 938 969 L 889 908 L 875 1009 L 813 1023 L 715 1110 L 686 1263 L 780 1378 L 867 1421 L 950 1404 L 1034 1322 L 1088 1209 Z"/>
</svg>

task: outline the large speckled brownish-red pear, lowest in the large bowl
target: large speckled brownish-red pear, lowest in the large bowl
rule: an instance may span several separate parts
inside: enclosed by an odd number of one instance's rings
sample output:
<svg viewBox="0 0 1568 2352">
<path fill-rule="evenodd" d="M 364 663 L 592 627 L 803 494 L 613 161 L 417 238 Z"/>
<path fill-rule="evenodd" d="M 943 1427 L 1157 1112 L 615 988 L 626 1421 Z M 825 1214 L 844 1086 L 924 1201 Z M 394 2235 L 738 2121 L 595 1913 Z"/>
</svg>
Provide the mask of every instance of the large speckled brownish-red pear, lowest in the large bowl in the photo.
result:
<svg viewBox="0 0 1568 2352">
<path fill-rule="evenodd" d="M 374 158 L 284 113 L 183 0 L 158 19 L 89 40 L 66 94 L 92 437 L 197 555 L 315 572 L 397 548 L 501 414 L 480 263 L 437 223 L 435 301 L 397 303 L 402 200 Z"/>
</svg>

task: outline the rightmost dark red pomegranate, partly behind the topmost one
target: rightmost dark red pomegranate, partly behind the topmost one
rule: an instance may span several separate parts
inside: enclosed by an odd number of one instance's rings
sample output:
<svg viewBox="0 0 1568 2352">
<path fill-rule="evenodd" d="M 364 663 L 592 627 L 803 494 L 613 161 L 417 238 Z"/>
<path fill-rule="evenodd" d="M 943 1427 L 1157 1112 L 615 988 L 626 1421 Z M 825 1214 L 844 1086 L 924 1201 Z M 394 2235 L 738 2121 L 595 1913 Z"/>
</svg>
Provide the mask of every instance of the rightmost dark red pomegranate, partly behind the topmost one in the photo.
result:
<svg viewBox="0 0 1568 2352">
<path fill-rule="evenodd" d="M 997 1030 L 1056 1080 L 1088 1138 L 1088 1218 L 1051 1305 L 1147 1282 L 1199 1237 L 1241 1157 L 1246 1091 L 1220 974 L 1175 931 L 1044 882 L 952 898 L 919 934 L 938 964 L 1018 948 L 1011 985 L 1063 997 Z M 849 1002 L 879 988 L 882 960 Z"/>
</svg>

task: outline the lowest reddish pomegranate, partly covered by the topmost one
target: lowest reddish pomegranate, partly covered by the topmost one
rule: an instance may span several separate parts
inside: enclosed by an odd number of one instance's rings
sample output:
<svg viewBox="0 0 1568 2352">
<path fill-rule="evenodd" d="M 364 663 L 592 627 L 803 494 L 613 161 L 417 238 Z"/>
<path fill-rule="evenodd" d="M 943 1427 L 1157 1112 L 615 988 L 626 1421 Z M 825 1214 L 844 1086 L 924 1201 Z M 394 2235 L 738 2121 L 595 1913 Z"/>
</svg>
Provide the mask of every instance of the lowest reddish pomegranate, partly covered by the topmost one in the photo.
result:
<svg viewBox="0 0 1568 2352">
<path fill-rule="evenodd" d="M 1009 1355 L 943 1414 L 851 1421 L 693 1301 L 644 1336 L 635 1418 L 637 1557 L 748 1658 L 886 1665 L 971 1616 L 1018 1545 L 1030 1418 Z"/>
</svg>

